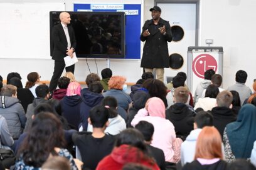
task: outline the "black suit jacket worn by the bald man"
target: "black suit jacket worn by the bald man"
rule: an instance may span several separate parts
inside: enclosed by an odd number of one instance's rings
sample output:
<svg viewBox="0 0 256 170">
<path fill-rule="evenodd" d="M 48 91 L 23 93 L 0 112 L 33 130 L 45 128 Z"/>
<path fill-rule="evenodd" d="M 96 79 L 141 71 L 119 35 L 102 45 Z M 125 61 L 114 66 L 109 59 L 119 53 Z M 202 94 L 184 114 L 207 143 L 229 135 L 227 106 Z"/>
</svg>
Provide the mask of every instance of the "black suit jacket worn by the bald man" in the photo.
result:
<svg viewBox="0 0 256 170">
<path fill-rule="evenodd" d="M 77 41 L 75 40 L 75 32 L 73 31 L 72 26 L 68 26 L 68 34 L 70 36 L 71 47 L 74 49 L 77 46 Z M 68 41 L 65 35 L 64 29 L 61 24 L 58 24 L 53 27 L 53 55 L 52 59 L 56 61 L 63 61 L 65 56 L 67 56 L 67 46 Z"/>
</svg>

